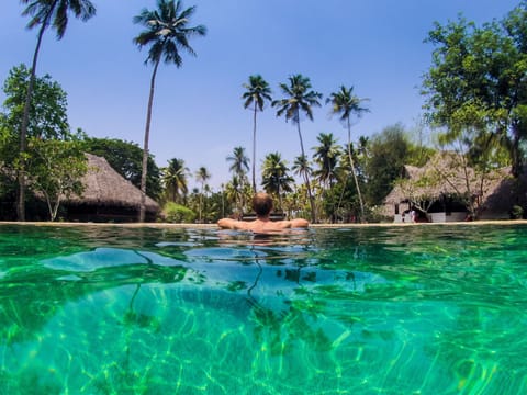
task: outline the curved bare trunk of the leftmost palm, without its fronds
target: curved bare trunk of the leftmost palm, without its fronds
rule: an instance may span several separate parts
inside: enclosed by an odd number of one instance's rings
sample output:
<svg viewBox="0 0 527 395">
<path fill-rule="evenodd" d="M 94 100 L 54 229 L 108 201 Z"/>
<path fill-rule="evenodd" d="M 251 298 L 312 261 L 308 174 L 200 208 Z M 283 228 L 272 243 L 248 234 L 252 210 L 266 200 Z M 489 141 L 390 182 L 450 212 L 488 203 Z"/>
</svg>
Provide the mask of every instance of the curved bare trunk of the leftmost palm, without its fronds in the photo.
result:
<svg viewBox="0 0 527 395">
<path fill-rule="evenodd" d="M 21 222 L 25 221 L 25 143 L 27 139 L 27 125 L 30 124 L 30 109 L 31 109 L 31 98 L 33 97 L 33 88 L 35 86 L 36 77 L 36 63 L 38 60 L 38 53 L 41 50 L 42 37 L 44 32 L 47 29 L 49 16 L 52 15 L 53 10 L 55 9 L 56 1 L 49 8 L 44 22 L 42 23 L 41 30 L 38 31 L 38 36 L 36 40 L 36 47 L 33 54 L 33 63 L 31 65 L 31 75 L 30 82 L 27 83 L 27 92 L 25 93 L 25 103 L 24 103 L 24 113 L 22 115 L 22 124 L 20 126 L 20 168 L 18 171 L 19 178 L 19 193 L 16 195 L 16 218 Z"/>
</svg>

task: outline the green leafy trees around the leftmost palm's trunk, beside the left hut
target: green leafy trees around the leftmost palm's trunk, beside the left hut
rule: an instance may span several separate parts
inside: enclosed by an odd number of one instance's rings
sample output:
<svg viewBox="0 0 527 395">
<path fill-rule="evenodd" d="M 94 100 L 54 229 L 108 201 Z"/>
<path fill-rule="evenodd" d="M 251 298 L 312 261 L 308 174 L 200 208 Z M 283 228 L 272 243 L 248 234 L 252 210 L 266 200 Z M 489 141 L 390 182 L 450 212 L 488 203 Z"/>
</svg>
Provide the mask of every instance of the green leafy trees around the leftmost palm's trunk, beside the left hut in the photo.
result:
<svg viewBox="0 0 527 395">
<path fill-rule="evenodd" d="M 0 193 L 4 204 L 0 215 L 4 217 L 4 211 L 12 212 L 7 204 L 15 199 L 18 171 L 24 165 L 27 187 L 46 202 L 53 221 L 61 200 L 82 189 L 80 178 L 86 173 L 86 158 L 79 146 L 82 136 L 69 129 L 67 95 L 58 82 L 48 75 L 35 77 L 27 124 L 29 145 L 27 149 L 20 151 L 20 129 L 30 78 L 30 70 L 20 65 L 10 70 L 3 84 L 5 113 L 0 114 L 0 166 L 3 169 Z M 42 208 L 37 207 L 37 211 Z"/>
</svg>

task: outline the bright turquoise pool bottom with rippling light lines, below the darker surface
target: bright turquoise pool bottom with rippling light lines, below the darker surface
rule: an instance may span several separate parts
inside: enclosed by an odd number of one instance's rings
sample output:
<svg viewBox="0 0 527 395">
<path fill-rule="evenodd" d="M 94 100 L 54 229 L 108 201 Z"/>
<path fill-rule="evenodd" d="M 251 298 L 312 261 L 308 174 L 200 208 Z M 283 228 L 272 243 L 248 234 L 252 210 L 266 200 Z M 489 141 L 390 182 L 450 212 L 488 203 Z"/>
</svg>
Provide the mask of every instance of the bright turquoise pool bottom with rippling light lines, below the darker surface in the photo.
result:
<svg viewBox="0 0 527 395">
<path fill-rule="evenodd" d="M 309 297 L 289 304 L 166 284 L 91 294 L 58 309 L 35 340 L 0 347 L 1 393 L 493 394 L 507 393 L 507 386 L 526 388 L 526 368 L 502 364 L 493 345 L 484 343 L 485 335 L 463 339 L 473 336 L 474 314 L 492 324 L 506 318 L 496 317 L 503 311 L 467 306 L 460 314 L 458 306 L 440 303 L 343 300 L 324 314 L 311 314 L 316 306 L 309 304 Z M 467 332 L 460 330 L 460 317 Z"/>
</svg>

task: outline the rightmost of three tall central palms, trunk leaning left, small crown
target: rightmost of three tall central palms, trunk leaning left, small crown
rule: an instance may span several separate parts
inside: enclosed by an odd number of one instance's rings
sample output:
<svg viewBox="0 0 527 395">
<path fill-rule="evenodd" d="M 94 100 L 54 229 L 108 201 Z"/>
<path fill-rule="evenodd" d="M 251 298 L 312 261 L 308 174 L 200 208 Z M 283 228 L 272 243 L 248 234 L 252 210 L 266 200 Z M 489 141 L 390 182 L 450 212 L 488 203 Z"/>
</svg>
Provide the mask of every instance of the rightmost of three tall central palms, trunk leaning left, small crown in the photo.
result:
<svg viewBox="0 0 527 395">
<path fill-rule="evenodd" d="M 361 116 L 362 113 L 369 112 L 368 109 L 360 106 L 360 103 L 368 99 L 359 99 L 354 94 L 354 87 L 349 89 L 345 86 L 340 87 L 340 90 L 333 92 L 329 98 L 326 99 L 326 103 L 332 104 L 332 114 L 340 114 L 340 121 L 348 128 L 348 157 L 351 165 L 351 173 L 354 174 L 355 187 L 357 188 L 357 194 L 359 196 L 360 216 L 361 221 L 365 219 L 365 203 L 362 201 L 362 194 L 360 193 L 359 181 L 357 179 L 357 172 L 355 170 L 354 158 L 351 155 L 351 115 Z"/>
</svg>

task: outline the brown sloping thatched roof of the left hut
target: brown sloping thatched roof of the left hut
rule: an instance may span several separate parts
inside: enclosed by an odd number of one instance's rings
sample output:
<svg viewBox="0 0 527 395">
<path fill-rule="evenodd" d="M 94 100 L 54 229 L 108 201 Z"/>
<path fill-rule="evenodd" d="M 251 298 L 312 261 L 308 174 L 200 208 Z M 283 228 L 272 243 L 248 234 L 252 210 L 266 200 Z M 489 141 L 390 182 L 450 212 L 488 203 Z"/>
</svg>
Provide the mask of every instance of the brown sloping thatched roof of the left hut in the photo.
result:
<svg viewBox="0 0 527 395">
<path fill-rule="evenodd" d="M 82 177 L 85 192 L 81 196 L 70 196 L 67 203 L 139 207 L 141 190 L 138 188 L 117 173 L 106 159 L 91 154 L 86 154 L 86 157 L 88 172 Z M 148 196 L 146 196 L 146 211 L 159 211 L 159 205 Z"/>
</svg>

